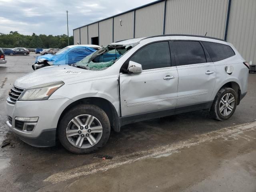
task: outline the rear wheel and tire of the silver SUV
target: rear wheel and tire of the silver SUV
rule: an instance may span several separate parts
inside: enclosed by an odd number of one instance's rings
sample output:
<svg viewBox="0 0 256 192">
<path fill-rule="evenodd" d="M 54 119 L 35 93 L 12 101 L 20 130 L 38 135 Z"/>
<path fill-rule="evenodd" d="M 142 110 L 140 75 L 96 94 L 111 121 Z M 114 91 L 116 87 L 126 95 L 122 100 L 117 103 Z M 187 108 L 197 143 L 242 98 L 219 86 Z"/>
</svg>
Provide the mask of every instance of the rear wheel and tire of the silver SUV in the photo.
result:
<svg viewBox="0 0 256 192">
<path fill-rule="evenodd" d="M 237 93 L 232 88 L 220 89 L 210 110 L 212 117 L 220 121 L 229 119 L 236 110 L 237 99 Z"/>
</svg>

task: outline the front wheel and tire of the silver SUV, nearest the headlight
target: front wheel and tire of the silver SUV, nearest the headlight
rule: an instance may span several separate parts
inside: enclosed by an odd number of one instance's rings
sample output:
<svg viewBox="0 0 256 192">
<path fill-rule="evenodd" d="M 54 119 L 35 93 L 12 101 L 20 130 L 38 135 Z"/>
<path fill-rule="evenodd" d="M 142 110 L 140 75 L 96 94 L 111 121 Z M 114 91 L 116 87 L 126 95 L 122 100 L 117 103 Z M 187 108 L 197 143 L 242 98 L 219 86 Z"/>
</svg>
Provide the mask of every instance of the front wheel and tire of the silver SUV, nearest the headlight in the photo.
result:
<svg viewBox="0 0 256 192">
<path fill-rule="evenodd" d="M 57 131 L 60 143 L 66 150 L 75 154 L 88 154 L 106 144 L 110 135 L 110 122 L 107 114 L 98 106 L 80 104 L 64 114 Z"/>
</svg>

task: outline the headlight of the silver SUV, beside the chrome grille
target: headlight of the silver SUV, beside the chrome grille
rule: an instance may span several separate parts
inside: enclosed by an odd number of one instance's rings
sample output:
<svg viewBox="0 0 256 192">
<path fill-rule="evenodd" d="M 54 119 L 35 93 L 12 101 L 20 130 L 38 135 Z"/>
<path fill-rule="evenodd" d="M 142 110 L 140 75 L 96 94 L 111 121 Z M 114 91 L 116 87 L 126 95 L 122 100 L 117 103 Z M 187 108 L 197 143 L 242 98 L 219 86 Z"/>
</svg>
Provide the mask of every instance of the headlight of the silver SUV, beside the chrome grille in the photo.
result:
<svg viewBox="0 0 256 192">
<path fill-rule="evenodd" d="M 20 101 L 47 100 L 58 88 L 64 85 L 63 81 L 46 83 L 25 89 L 20 95 Z"/>
</svg>

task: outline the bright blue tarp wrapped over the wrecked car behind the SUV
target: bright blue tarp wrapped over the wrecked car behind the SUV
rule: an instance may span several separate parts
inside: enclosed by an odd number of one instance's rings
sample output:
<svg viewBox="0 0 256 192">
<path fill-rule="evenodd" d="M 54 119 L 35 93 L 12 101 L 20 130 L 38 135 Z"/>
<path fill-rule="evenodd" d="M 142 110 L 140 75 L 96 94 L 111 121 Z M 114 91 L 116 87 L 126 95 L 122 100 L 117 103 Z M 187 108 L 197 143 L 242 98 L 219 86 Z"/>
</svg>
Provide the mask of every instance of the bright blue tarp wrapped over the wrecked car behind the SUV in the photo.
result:
<svg viewBox="0 0 256 192">
<path fill-rule="evenodd" d="M 75 46 L 72 48 L 63 48 L 55 55 L 46 54 L 39 56 L 36 58 L 35 63 L 43 62 L 44 60 L 52 62 L 52 65 L 66 65 L 66 64 L 74 64 L 86 56 L 92 54 L 96 50 L 89 47 L 84 46 Z"/>
</svg>

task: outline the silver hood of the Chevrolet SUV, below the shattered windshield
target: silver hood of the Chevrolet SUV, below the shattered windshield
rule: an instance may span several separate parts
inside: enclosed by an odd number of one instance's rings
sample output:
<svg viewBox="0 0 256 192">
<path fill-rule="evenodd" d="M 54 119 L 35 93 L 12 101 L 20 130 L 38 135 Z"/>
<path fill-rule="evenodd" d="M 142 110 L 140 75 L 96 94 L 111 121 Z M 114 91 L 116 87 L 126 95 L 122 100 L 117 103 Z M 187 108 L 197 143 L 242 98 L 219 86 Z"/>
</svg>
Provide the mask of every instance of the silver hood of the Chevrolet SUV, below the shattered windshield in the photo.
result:
<svg viewBox="0 0 256 192">
<path fill-rule="evenodd" d="M 76 68 L 69 65 L 48 66 L 30 72 L 25 76 L 17 79 L 14 82 L 14 85 L 26 89 L 32 86 L 50 82 L 70 82 L 72 80 L 79 80 L 81 78 L 84 79 L 89 74 L 93 74 L 92 76 L 94 76 L 97 73 L 95 73 L 95 71 Z"/>
</svg>

